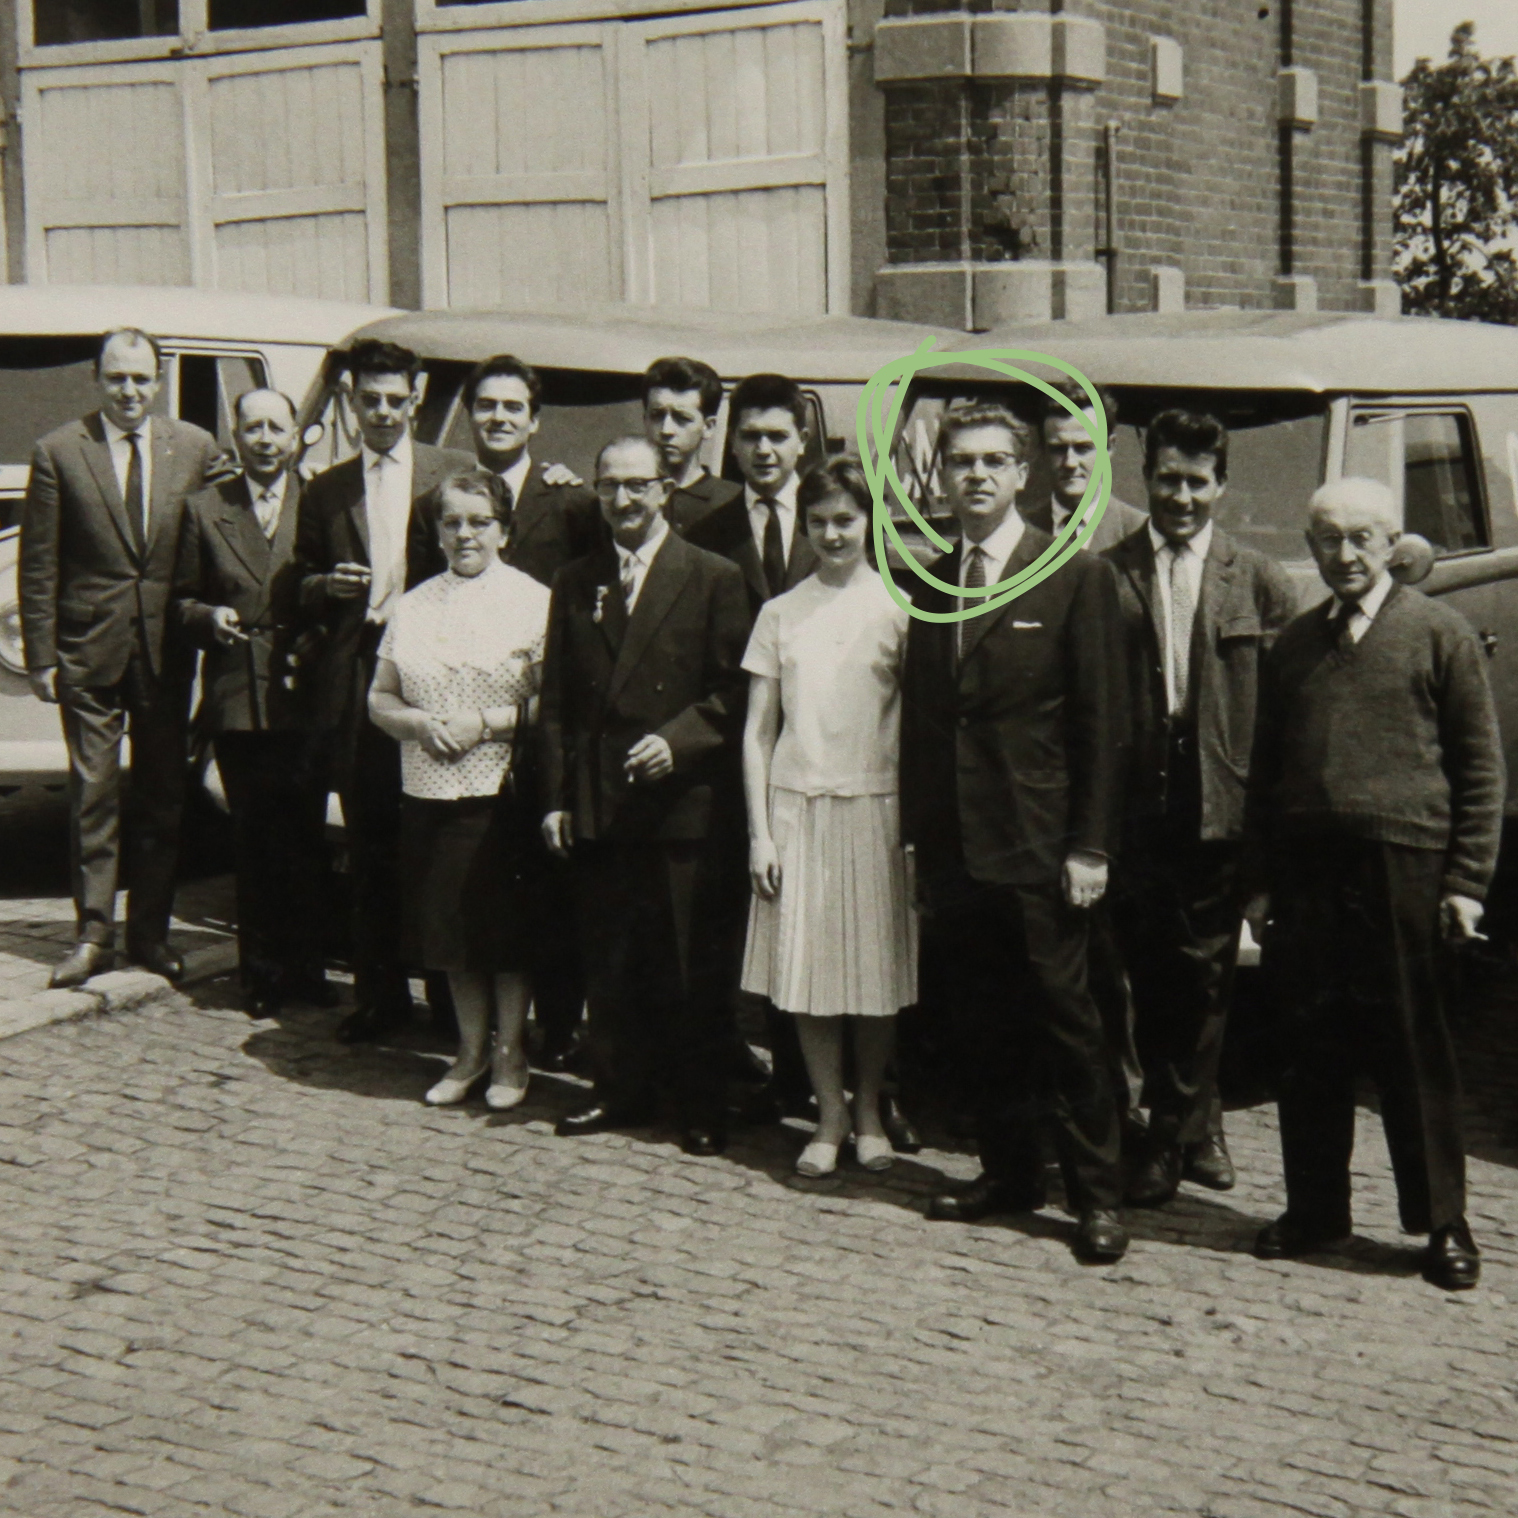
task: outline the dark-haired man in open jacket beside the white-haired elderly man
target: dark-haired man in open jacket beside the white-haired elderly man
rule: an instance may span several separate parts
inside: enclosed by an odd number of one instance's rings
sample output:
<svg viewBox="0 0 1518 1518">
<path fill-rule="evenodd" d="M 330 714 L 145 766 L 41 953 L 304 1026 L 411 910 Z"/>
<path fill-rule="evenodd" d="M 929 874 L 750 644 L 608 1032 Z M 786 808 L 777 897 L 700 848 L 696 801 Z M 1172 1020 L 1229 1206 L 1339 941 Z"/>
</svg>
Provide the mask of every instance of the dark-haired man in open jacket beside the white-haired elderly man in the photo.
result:
<svg viewBox="0 0 1518 1518">
<path fill-rule="evenodd" d="M 1217 1061 L 1243 918 L 1245 783 L 1260 666 L 1296 598 L 1274 559 L 1213 521 L 1228 481 L 1220 422 L 1157 416 L 1145 480 L 1149 521 L 1107 553 L 1132 718 L 1113 911 L 1149 1098 L 1128 1201 L 1160 1207 L 1183 1175 L 1219 1190 L 1234 1179 Z"/>
</svg>

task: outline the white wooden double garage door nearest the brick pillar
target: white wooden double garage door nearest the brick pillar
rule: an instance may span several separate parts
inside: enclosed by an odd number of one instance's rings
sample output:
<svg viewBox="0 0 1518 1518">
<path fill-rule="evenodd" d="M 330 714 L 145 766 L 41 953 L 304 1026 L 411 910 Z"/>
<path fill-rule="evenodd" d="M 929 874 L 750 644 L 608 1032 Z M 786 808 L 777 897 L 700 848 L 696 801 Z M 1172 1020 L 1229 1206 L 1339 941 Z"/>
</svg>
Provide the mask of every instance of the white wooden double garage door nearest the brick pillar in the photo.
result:
<svg viewBox="0 0 1518 1518">
<path fill-rule="evenodd" d="M 847 310 L 841 0 L 420 55 L 428 305 Z"/>
</svg>

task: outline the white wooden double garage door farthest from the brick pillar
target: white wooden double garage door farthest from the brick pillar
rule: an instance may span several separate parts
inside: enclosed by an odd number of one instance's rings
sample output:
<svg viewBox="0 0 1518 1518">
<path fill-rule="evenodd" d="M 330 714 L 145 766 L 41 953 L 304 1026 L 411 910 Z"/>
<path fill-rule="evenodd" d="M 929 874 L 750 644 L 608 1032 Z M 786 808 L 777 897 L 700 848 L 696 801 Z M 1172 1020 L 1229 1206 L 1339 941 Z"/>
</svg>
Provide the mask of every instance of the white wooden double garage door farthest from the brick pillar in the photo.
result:
<svg viewBox="0 0 1518 1518">
<path fill-rule="evenodd" d="M 378 43 L 23 80 L 32 279 L 386 299 Z"/>
</svg>

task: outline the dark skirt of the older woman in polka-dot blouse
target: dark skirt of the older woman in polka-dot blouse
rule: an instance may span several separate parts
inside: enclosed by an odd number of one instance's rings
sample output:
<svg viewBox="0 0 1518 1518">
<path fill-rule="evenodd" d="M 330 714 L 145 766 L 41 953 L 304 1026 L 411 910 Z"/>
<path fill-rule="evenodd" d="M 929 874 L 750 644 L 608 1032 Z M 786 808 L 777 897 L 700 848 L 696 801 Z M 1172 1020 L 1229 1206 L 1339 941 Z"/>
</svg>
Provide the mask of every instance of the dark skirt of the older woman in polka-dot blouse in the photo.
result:
<svg viewBox="0 0 1518 1518">
<path fill-rule="evenodd" d="M 515 797 L 402 803 L 404 961 L 424 970 L 525 970 L 536 839 Z"/>
</svg>

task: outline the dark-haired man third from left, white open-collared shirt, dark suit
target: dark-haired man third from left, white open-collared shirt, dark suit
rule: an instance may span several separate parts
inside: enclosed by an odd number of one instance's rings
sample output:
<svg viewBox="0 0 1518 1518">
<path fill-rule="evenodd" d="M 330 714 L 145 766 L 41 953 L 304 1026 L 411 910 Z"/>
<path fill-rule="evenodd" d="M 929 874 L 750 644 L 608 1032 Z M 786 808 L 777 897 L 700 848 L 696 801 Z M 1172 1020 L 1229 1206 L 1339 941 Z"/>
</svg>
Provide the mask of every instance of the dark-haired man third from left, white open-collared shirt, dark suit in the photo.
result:
<svg viewBox="0 0 1518 1518">
<path fill-rule="evenodd" d="M 393 1031 L 411 1011 L 396 956 L 401 750 L 369 721 L 369 685 L 395 603 L 440 568 L 436 539 L 413 531 L 425 510 L 419 502 L 474 460 L 411 440 L 420 396 L 416 354 L 363 339 L 348 361 L 361 448 L 305 487 L 296 559 L 305 641 L 314 647 L 301 666 L 308 721 L 343 802 L 352 865 L 357 1006 L 337 1037 L 361 1043 Z"/>
</svg>

